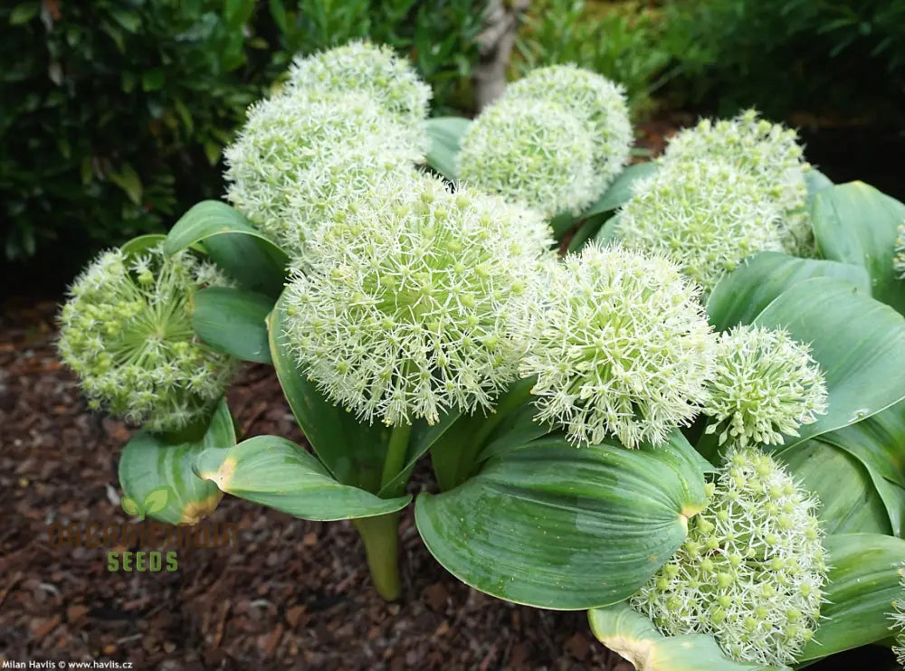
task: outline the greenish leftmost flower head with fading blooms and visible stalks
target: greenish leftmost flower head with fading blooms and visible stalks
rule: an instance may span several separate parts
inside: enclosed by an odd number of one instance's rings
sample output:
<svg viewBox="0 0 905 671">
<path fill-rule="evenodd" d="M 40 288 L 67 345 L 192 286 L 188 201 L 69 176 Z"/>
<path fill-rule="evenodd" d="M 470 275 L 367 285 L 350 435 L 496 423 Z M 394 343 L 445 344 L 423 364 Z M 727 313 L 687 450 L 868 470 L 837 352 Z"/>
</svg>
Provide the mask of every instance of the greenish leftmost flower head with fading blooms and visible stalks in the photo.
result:
<svg viewBox="0 0 905 671">
<path fill-rule="evenodd" d="M 153 431 L 202 419 L 235 364 L 195 336 L 192 296 L 228 283 L 188 251 L 167 256 L 157 247 L 131 260 L 101 253 L 70 288 L 58 344 L 90 407 Z"/>
</svg>

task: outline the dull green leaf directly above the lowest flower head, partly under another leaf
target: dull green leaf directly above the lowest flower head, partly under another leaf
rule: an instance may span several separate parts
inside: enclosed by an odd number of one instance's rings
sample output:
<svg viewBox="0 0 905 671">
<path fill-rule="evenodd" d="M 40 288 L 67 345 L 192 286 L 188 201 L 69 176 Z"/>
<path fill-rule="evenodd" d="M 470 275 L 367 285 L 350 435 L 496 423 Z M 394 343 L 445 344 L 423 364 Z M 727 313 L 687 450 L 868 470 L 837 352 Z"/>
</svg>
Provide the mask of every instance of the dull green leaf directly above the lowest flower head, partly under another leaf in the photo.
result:
<svg viewBox="0 0 905 671">
<path fill-rule="evenodd" d="M 891 534 L 890 516 L 867 468 L 844 449 L 824 442 L 830 435 L 807 440 L 780 456 L 802 487 L 820 500 L 820 527 L 827 534 Z"/>
</svg>

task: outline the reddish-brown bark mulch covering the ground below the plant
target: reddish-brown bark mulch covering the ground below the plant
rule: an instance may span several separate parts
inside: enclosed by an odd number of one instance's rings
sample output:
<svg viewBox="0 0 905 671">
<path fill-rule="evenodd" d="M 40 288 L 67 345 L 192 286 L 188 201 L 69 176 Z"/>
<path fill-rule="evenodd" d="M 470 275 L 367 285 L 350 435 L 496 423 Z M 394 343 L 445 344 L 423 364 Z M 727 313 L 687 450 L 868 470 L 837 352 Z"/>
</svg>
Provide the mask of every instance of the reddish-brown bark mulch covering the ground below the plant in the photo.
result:
<svg viewBox="0 0 905 671">
<path fill-rule="evenodd" d="M 0 318 L 0 662 L 129 661 L 135 669 L 630 671 L 584 612 L 535 610 L 457 581 L 402 523 L 404 600 L 367 577 L 347 522 L 307 522 L 231 496 L 210 518 L 232 547 L 178 551 L 176 572 L 109 572 L 106 549 L 53 547 L 54 522 L 127 523 L 117 463 L 130 431 L 86 410 L 53 350 L 52 303 Z M 230 406 L 244 435 L 300 431 L 266 366 Z M 59 666 L 57 666 L 59 668 Z"/>
</svg>

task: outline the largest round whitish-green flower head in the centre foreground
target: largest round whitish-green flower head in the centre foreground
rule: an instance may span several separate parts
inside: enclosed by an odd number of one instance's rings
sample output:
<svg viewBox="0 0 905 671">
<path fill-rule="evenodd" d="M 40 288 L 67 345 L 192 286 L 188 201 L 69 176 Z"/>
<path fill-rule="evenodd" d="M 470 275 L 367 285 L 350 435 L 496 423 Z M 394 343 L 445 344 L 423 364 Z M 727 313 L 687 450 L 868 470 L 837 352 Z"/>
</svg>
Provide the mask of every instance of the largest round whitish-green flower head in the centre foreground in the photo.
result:
<svg viewBox="0 0 905 671">
<path fill-rule="evenodd" d="M 310 241 L 284 336 L 358 417 L 438 421 L 517 378 L 510 307 L 552 241 L 538 213 L 420 175 Z"/>
</svg>

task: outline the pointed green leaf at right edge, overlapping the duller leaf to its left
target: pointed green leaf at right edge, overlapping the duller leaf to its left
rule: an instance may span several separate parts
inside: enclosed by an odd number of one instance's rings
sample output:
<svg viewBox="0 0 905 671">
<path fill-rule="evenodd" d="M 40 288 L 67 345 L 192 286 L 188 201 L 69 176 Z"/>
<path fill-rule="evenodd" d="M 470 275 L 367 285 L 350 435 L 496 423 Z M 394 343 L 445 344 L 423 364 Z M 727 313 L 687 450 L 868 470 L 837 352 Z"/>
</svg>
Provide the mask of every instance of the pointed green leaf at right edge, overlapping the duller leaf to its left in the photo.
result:
<svg viewBox="0 0 905 671">
<path fill-rule="evenodd" d="M 905 534 L 905 402 L 821 436 L 867 469 L 897 536 Z"/>
</svg>

